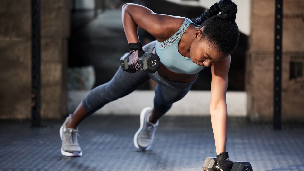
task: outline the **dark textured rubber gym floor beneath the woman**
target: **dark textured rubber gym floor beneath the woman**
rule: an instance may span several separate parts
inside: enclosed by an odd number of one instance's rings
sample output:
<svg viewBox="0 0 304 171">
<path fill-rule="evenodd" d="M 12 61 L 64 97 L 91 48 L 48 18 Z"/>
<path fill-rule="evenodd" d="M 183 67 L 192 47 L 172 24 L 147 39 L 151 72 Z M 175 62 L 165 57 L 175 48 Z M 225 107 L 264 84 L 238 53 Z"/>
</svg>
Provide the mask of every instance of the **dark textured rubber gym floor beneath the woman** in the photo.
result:
<svg viewBox="0 0 304 171">
<path fill-rule="evenodd" d="M 210 117 L 164 116 L 148 151 L 133 145 L 139 116 L 95 116 L 79 125 L 83 156 L 60 153 L 59 128 L 64 120 L 43 121 L 31 128 L 29 120 L 0 121 L 2 171 L 202 171 L 206 157 L 216 155 Z M 304 126 L 248 122 L 228 118 L 226 151 L 233 161 L 248 161 L 254 171 L 304 169 Z"/>
</svg>

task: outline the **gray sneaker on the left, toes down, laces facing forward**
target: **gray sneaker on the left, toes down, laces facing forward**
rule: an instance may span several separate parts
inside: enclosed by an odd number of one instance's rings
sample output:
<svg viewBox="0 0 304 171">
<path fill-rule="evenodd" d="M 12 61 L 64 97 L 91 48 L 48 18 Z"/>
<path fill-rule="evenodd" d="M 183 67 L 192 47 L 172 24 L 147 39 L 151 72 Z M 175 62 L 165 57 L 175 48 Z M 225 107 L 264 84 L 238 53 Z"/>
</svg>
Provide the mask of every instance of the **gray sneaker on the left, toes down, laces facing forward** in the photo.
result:
<svg viewBox="0 0 304 171">
<path fill-rule="evenodd" d="M 60 127 L 59 133 L 62 140 L 61 154 L 65 156 L 81 156 L 82 151 L 78 144 L 78 129 L 66 128 L 65 124 L 72 117 L 70 114 Z"/>
</svg>

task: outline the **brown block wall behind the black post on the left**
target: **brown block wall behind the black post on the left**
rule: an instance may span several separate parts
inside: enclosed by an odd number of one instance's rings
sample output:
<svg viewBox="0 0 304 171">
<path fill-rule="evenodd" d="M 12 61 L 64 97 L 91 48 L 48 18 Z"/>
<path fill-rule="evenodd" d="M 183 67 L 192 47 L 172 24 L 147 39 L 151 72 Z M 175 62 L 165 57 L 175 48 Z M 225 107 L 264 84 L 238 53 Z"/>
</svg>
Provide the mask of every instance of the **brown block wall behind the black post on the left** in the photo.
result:
<svg viewBox="0 0 304 171">
<path fill-rule="evenodd" d="M 41 117 L 66 113 L 69 2 L 41 1 Z M 31 2 L 0 1 L 0 118 L 31 117 Z"/>
</svg>

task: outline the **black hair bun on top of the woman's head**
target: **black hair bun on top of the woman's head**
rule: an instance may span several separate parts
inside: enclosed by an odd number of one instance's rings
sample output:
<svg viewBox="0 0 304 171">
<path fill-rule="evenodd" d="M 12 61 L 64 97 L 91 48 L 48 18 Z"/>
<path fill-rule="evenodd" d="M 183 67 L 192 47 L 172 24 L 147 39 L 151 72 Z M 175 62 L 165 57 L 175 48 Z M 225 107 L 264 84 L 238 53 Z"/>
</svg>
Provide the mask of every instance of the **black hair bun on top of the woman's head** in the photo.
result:
<svg viewBox="0 0 304 171">
<path fill-rule="evenodd" d="M 231 0 L 219 1 L 220 14 L 219 18 L 235 22 L 237 14 L 237 5 Z"/>
</svg>

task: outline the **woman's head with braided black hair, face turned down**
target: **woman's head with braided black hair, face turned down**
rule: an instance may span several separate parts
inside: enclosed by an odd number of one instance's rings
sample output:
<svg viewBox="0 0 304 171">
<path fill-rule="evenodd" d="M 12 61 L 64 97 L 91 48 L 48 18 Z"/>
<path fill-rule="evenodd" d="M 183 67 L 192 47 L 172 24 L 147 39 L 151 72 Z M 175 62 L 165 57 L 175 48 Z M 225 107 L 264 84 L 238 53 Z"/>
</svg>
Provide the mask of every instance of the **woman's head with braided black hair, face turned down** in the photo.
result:
<svg viewBox="0 0 304 171">
<path fill-rule="evenodd" d="M 199 61 L 198 55 L 200 58 L 203 56 L 208 58 L 206 53 L 209 55 L 213 53 L 216 59 L 210 55 L 212 61 L 222 61 L 235 49 L 240 37 L 235 23 L 236 13 L 235 3 L 231 0 L 222 0 L 212 5 L 199 18 L 192 19 L 195 24 L 201 26 L 200 30 L 195 31 L 195 40 L 191 45 L 191 56 L 195 58 L 195 61 Z"/>
</svg>

